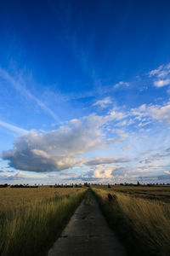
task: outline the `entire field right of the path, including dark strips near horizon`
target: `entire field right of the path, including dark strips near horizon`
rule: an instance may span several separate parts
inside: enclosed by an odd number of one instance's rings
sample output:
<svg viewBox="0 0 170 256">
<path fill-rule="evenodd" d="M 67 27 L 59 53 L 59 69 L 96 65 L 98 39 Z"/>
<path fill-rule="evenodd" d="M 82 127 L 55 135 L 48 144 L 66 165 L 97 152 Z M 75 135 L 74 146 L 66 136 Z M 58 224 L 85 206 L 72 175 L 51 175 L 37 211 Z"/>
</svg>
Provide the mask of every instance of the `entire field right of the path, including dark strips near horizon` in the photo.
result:
<svg viewBox="0 0 170 256">
<path fill-rule="evenodd" d="M 161 187 L 95 186 L 93 189 L 129 255 L 170 255 L 170 204 L 165 202 L 169 188 L 162 187 L 161 191 Z M 108 193 L 115 194 L 117 200 L 109 202 Z M 158 195 L 162 200 L 157 200 Z"/>
</svg>

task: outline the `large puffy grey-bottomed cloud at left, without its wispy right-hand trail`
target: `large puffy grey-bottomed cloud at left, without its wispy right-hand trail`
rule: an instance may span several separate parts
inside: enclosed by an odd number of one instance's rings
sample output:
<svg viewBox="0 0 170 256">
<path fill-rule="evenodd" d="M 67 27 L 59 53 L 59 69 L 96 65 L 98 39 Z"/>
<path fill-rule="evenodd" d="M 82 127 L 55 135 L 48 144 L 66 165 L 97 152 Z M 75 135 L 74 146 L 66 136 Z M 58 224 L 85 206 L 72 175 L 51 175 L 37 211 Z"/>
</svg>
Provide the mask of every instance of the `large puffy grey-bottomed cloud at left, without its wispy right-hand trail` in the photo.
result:
<svg viewBox="0 0 170 256">
<path fill-rule="evenodd" d="M 3 151 L 3 160 L 9 160 L 9 165 L 16 169 L 31 172 L 53 172 L 80 166 L 83 163 L 80 156 L 113 143 L 105 138 L 102 130 L 102 125 L 112 119 L 111 115 L 92 114 L 71 120 L 54 131 L 30 131 L 15 138 L 14 148 Z"/>
</svg>

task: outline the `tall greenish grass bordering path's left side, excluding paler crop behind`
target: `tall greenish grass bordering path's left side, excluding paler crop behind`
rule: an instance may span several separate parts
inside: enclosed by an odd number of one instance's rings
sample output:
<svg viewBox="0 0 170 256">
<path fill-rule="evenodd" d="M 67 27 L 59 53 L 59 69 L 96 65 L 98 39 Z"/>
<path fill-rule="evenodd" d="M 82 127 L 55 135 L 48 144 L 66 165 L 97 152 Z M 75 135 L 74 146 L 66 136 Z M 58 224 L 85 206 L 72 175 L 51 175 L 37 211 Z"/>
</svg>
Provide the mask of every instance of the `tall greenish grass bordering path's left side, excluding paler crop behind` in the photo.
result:
<svg viewBox="0 0 170 256">
<path fill-rule="evenodd" d="M 43 201 L 34 201 L 14 212 L 1 212 L 0 254 L 45 255 L 63 225 L 82 200 L 85 189 L 75 189 Z"/>
</svg>

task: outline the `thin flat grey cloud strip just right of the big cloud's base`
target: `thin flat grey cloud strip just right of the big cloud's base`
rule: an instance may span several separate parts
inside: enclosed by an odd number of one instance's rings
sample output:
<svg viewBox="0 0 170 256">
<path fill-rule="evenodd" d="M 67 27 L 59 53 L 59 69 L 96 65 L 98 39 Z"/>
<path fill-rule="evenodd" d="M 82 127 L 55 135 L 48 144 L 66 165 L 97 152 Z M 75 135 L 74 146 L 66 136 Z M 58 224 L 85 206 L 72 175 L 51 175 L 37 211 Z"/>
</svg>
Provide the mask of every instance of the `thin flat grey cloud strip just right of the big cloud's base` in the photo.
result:
<svg viewBox="0 0 170 256">
<path fill-rule="evenodd" d="M 94 160 L 88 160 L 85 165 L 87 166 L 97 166 L 101 164 L 113 164 L 113 163 L 126 163 L 129 160 L 127 157 L 124 158 L 117 158 L 117 157 L 101 157 L 96 158 Z"/>
</svg>

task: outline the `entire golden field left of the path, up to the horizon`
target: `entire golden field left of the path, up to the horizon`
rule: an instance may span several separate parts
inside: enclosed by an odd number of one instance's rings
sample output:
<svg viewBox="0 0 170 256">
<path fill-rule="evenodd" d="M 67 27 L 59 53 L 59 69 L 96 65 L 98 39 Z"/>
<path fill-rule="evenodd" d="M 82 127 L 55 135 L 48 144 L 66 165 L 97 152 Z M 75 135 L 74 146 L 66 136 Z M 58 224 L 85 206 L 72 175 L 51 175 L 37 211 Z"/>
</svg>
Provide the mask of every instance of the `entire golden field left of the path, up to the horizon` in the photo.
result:
<svg viewBox="0 0 170 256">
<path fill-rule="evenodd" d="M 85 191 L 0 189 L 0 255 L 46 255 Z"/>
</svg>

